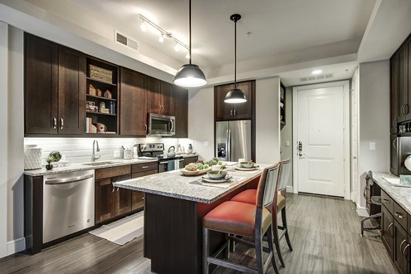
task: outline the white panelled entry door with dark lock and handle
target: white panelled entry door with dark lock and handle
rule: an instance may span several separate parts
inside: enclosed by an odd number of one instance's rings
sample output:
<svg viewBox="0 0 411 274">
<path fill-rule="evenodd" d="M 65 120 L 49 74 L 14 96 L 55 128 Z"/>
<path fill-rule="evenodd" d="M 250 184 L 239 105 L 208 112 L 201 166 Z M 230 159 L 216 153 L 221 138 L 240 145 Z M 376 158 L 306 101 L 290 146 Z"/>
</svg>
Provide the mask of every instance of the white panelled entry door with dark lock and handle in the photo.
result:
<svg viewBox="0 0 411 274">
<path fill-rule="evenodd" d="M 298 192 L 345 197 L 344 86 L 297 91 L 297 140 Z"/>
</svg>

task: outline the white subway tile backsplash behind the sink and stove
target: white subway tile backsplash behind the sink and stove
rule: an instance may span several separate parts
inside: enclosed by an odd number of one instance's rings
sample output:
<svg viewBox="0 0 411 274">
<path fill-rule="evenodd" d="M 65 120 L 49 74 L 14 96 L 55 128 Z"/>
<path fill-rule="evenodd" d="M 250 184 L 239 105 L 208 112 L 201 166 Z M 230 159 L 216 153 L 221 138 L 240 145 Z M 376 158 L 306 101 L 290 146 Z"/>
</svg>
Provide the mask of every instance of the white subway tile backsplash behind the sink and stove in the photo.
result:
<svg viewBox="0 0 411 274">
<path fill-rule="evenodd" d="M 71 163 L 90 162 L 92 154 L 93 140 L 99 141 L 99 152 L 96 155 L 101 155 L 99 160 L 114 159 L 114 151 L 124 147 L 133 147 L 134 143 L 142 144 L 147 142 L 162 142 L 164 150 L 174 146 L 177 151 L 178 144 L 181 144 L 185 151 L 188 149 L 188 144 L 192 143 L 186 138 L 24 138 L 24 145 L 37 145 L 42 148 L 42 162 L 45 164 L 45 158 L 51 151 L 60 151 L 62 155 L 66 155 L 66 160 Z M 195 151 L 195 149 L 194 149 Z"/>
</svg>

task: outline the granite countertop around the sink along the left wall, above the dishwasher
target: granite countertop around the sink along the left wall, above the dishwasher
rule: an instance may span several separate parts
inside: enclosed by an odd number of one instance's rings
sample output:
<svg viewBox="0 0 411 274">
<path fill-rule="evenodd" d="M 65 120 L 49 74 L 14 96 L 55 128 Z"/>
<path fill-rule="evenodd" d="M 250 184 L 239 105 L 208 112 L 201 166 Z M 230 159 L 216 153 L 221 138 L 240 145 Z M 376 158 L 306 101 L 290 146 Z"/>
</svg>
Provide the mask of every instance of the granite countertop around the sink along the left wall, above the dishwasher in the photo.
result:
<svg viewBox="0 0 411 274">
<path fill-rule="evenodd" d="M 198 156 L 197 153 L 181 153 L 177 156 L 182 156 L 183 158 L 195 157 Z M 166 159 L 166 158 L 164 158 Z M 98 162 L 108 162 L 107 164 L 101 164 L 97 166 L 90 166 L 91 162 L 86 163 L 79 163 L 79 164 L 70 164 L 69 166 L 62 166 L 62 167 L 55 167 L 51 169 L 51 171 L 47 171 L 45 167 L 41 169 L 32 169 L 28 171 L 24 171 L 24 175 L 29 176 L 42 176 L 42 175 L 50 175 L 50 174 L 58 174 L 58 173 L 68 173 L 73 171 L 87 171 L 90 169 L 105 169 L 112 166 L 124 166 L 126 164 L 143 164 L 145 162 L 157 162 L 157 159 L 132 159 L 132 160 L 123 160 L 123 159 L 112 159 L 112 160 L 97 160 Z"/>
</svg>

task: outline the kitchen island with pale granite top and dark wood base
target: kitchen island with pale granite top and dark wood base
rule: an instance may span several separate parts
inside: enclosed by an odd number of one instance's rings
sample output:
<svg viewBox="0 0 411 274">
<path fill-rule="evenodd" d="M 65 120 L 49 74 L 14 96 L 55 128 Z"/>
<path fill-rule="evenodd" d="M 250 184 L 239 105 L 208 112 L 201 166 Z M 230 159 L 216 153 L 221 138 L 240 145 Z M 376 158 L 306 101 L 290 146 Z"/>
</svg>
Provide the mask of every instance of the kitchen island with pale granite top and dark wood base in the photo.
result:
<svg viewBox="0 0 411 274">
<path fill-rule="evenodd" d="M 238 192 L 256 188 L 262 169 L 237 171 L 227 164 L 229 184 L 201 182 L 201 175 L 182 176 L 169 171 L 114 183 L 119 188 L 145 192 L 144 254 L 155 273 L 201 273 L 202 219 L 210 210 Z M 210 252 L 224 240 L 211 234 Z"/>
</svg>

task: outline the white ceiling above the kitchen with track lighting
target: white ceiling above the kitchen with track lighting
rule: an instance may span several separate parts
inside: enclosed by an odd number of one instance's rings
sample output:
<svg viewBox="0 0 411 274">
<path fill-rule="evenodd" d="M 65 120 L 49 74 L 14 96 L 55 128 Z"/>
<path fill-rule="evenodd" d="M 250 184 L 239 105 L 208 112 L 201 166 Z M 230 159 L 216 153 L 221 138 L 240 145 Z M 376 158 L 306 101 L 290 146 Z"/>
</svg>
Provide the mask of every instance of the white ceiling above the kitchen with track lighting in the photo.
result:
<svg viewBox="0 0 411 274">
<path fill-rule="evenodd" d="M 158 32 L 142 32 L 138 14 L 188 45 L 188 0 L 0 3 L 90 40 L 111 43 L 116 29 L 140 43 L 138 54 L 123 54 L 171 75 L 187 62 L 172 40 L 160 43 Z M 359 60 L 389 58 L 411 32 L 410 0 L 192 0 L 192 62 L 210 84 L 234 78 L 234 23 L 229 20 L 234 13 L 242 16 L 238 78 L 279 75 L 288 86 L 301 84 L 298 78 L 314 68 L 334 73 L 332 80 L 347 79 Z M 1 12 L 0 20 L 6 21 Z"/>
</svg>

